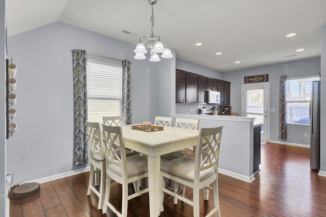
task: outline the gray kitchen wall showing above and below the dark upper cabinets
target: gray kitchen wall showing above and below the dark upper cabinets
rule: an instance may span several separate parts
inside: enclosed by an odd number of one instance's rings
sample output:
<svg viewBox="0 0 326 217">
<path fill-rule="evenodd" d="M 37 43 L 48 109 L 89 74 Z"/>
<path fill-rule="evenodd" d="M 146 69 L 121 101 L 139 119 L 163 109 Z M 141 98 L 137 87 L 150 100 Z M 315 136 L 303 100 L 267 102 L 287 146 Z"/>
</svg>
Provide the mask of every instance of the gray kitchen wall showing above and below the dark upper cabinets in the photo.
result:
<svg viewBox="0 0 326 217">
<path fill-rule="evenodd" d="M 184 70 L 187 72 L 196 73 L 199 75 L 223 79 L 223 73 L 200 66 L 197 64 L 190 63 L 188 61 L 182 59 L 176 59 L 176 69 Z M 175 86 L 175 84 L 174 84 Z M 187 104 L 187 103 L 176 103 L 176 113 L 177 114 L 198 114 L 198 109 L 206 106 L 206 104 Z M 211 107 L 211 105 L 207 105 L 207 107 Z"/>
</svg>

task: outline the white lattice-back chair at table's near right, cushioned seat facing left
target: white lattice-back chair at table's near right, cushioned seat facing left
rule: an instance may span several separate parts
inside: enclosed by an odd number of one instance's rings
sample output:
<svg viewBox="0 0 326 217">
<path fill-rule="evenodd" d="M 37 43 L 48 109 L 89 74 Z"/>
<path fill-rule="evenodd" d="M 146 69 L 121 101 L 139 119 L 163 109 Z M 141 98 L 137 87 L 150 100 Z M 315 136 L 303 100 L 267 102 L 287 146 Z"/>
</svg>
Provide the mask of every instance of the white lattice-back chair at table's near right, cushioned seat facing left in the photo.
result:
<svg viewBox="0 0 326 217">
<path fill-rule="evenodd" d="M 214 213 L 221 216 L 218 194 L 218 163 L 223 126 L 217 128 L 202 128 L 199 133 L 195 159 L 178 158 L 161 164 L 161 211 L 164 210 L 164 193 L 182 200 L 194 207 L 194 216 L 199 217 L 199 190 L 209 190 L 213 183 L 214 208 L 206 215 Z M 193 200 L 178 195 L 165 188 L 164 177 L 177 181 L 193 189 Z M 208 200 L 208 195 L 204 199 Z"/>
</svg>

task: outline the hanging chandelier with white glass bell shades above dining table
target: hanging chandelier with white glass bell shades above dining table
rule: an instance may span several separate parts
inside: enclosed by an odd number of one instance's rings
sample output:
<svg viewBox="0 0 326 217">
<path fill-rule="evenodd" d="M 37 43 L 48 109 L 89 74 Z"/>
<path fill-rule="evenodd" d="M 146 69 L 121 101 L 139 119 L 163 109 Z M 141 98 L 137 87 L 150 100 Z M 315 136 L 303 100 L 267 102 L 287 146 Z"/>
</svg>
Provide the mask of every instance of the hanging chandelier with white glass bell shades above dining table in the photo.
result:
<svg viewBox="0 0 326 217">
<path fill-rule="evenodd" d="M 145 53 L 147 53 L 146 49 L 149 49 L 151 53 L 151 58 L 149 61 L 152 62 L 158 62 L 161 59 L 159 58 L 157 53 L 162 53 L 161 57 L 162 58 L 172 58 L 173 55 L 171 53 L 171 50 L 169 49 L 169 46 L 167 43 L 164 43 L 159 36 L 154 36 L 154 10 L 153 10 L 153 5 L 155 5 L 157 0 L 148 0 L 148 3 L 152 6 L 152 16 L 150 18 L 150 22 L 152 24 L 152 30 L 151 30 L 151 36 L 140 38 L 139 42 L 133 52 L 136 54 L 134 55 L 133 58 L 135 59 L 146 59 Z"/>
</svg>

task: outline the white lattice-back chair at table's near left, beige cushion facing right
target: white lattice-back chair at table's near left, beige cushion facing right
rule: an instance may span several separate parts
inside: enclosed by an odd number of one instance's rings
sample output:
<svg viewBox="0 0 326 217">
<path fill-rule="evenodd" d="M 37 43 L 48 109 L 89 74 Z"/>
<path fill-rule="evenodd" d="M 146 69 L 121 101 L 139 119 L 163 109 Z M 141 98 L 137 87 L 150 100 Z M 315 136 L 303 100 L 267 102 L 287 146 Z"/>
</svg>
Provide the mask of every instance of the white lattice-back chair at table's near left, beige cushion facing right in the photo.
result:
<svg viewBox="0 0 326 217">
<path fill-rule="evenodd" d="M 106 186 L 104 206 L 102 213 L 106 213 L 107 207 L 118 216 L 127 216 L 128 200 L 148 192 L 148 188 L 128 195 L 128 183 L 137 182 L 148 176 L 147 157 L 139 154 L 126 157 L 121 127 L 106 126 L 102 124 L 104 138 L 104 152 L 106 162 Z M 121 213 L 110 203 L 111 179 L 122 184 L 122 209 Z"/>
</svg>

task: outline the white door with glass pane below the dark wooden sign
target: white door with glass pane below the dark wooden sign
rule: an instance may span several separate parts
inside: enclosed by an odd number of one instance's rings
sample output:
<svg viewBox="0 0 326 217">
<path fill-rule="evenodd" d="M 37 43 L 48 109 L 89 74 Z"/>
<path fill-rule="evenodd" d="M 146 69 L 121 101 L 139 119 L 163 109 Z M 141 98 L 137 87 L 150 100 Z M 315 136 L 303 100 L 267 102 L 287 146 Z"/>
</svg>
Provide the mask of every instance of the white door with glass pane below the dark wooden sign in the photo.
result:
<svg viewBox="0 0 326 217">
<path fill-rule="evenodd" d="M 262 141 L 267 141 L 268 134 L 268 90 L 267 84 L 242 86 L 242 116 L 255 117 L 254 124 L 262 123 Z"/>
</svg>

